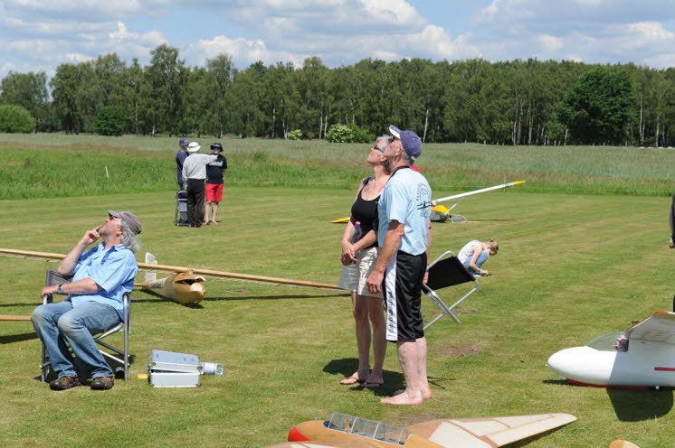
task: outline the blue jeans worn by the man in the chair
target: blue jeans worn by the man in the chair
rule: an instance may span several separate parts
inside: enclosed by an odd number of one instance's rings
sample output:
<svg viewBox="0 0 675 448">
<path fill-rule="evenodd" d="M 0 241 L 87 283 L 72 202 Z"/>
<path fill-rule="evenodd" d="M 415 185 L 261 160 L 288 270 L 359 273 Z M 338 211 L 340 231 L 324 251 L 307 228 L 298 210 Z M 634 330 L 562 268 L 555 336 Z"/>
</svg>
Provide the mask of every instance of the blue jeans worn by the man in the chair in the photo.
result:
<svg viewBox="0 0 675 448">
<path fill-rule="evenodd" d="M 70 300 L 64 300 L 38 306 L 31 320 L 49 353 L 52 370 L 59 377 L 78 376 L 72 355 L 63 340 L 68 341 L 78 362 L 86 366 L 91 378 L 112 377 L 112 370 L 100 354 L 92 335 L 107 331 L 121 322 L 115 308 L 97 302 L 85 302 L 73 308 Z"/>
</svg>

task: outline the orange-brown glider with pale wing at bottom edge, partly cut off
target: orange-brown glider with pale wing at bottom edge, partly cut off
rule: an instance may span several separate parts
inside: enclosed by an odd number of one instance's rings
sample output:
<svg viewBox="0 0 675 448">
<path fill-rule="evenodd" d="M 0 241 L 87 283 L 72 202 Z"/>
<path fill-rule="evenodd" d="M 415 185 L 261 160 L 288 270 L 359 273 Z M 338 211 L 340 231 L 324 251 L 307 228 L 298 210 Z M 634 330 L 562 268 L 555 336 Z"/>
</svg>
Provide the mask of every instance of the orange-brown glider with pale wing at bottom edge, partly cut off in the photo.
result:
<svg viewBox="0 0 675 448">
<path fill-rule="evenodd" d="M 268 448 L 494 448 L 576 420 L 569 414 L 431 420 L 406 427 L 333 413 L 290 428 L 288 443 Z"/>
</svg>

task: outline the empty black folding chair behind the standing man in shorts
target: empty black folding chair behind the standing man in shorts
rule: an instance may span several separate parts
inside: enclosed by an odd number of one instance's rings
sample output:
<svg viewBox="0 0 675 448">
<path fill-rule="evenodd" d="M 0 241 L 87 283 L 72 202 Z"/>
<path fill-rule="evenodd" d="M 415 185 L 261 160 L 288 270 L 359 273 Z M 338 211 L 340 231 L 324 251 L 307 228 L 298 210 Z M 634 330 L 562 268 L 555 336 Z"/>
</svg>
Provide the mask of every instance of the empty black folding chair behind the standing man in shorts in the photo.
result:
<svg viewBox="0 0 675 448">
<path fill-rule="evenodd" d="M 445 257 L 448 254 L 452 254 L 452 257 Z M 444 258 L 445 257 L 445 258 Z M 426 270 L 429 272 L 429 279 L 426 284 L 422 285 L 422 290 L 433 303 L 436 304 L 441 309 L 441 313 L 437 315 L 431 322 L 424 325 L 424 330 L 431 327 L 433 322 L 438 321 L 442 318 L 443 315 L 450 317 L 454 322 L 460 323 L 460 320 L 457 316 L 452 313 L 452 309 L 459 305 L 464 299 L 469 297 L 471 294 L 478 291 L 479 284 L 476 278 L 469 273 L 469 271 L 464 267 L 460 260 L 455 257 L 452 250 L 447 250 L 442 253 L 441 257 L 436 258 L 433 262 L 426 267 Z M 452 303 L 452 306 L 446 305 L 441 297 L 436 294 L 437 289 L 441 289 L 447 286 L 461 285 L 462 283 L 473 282 L 475 286 L 467 294 L 464 294 L 460 300 L 455 303 Z"/>
</svg>

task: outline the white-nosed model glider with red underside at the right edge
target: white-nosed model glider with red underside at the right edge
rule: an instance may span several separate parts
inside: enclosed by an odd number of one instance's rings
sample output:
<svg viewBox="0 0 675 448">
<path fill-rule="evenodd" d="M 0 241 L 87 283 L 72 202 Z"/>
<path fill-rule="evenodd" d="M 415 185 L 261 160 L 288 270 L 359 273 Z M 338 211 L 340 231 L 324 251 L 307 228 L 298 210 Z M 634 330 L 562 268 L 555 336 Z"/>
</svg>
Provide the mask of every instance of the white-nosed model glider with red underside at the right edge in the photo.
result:
<svg viewBox="0 0 675 448">
<path fill-rule="evenodd" d="M 675 313 L 653 313 L 626 331 L 560 350 L 547 365 L 584 386 L 675 387 Z"/>
</svg>

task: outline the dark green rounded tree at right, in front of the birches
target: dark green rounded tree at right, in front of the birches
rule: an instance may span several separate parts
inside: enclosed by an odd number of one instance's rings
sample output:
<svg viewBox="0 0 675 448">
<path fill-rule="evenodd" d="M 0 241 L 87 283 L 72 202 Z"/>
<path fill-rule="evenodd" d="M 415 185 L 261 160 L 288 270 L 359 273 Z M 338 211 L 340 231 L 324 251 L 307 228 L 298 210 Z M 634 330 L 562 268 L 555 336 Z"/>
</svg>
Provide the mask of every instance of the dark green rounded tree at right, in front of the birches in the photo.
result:
<svg viewBox="0 0 675 448">
<path fill-rule="evenodd" d="M 580 142 L 623 144 L 634 114 L 631 78 L 607 67 L 588 70 L 567 92 L 558 113 Z"/>
</svg>

